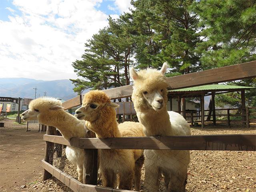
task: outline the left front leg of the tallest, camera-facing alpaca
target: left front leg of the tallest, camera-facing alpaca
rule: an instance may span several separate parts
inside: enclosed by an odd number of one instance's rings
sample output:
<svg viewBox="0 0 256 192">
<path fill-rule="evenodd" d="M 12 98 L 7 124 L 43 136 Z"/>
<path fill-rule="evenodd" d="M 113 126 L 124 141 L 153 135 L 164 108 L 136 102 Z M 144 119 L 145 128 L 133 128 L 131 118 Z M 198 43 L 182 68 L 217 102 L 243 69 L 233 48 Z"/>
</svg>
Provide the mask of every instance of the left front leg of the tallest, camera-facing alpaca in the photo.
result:
<svg viewBox="0 0 256 192">
<path fill-rule="evenodd" d="M 158 191 L 160 184 L 161 172 L 158 167 L 145 166 L 144 192 Z"/>
</svg>

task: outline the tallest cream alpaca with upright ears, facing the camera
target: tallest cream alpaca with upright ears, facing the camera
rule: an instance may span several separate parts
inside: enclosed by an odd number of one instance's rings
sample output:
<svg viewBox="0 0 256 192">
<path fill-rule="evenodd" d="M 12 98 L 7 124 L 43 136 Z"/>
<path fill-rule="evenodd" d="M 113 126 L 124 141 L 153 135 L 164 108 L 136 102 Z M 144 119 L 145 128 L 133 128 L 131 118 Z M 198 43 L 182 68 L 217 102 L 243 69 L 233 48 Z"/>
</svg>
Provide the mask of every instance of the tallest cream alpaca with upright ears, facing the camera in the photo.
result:
<svg viewBox="0 0 256 192">
<path fill-rule="evenodd" d="M 160 71 L 130 69 L 134 80 L 132 100 L 146 136 L 190 135 L 186 120 L 176 112 L 167 112 L 168 65 Z M 190 152 L 186 150 L 144 150 L 144 191 L 158 191 L 159 178 L 164 175 L 166 191 L 185 191 Z"/>
</svg>

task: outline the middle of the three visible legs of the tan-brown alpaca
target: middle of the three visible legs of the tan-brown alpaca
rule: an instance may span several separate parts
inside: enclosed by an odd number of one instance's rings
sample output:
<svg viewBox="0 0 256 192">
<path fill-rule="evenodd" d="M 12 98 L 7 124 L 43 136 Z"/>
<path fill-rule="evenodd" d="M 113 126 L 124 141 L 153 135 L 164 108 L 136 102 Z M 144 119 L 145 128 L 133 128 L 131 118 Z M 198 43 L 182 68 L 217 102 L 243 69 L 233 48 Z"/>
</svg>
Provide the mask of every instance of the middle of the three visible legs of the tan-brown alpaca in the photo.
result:
<svg viewBox="0 0 256 192">
<path fill-rule="evenodd" d="M 123 171 L 119 174 L 118 189 L 132 189 L 132 181 L 134 179 L 134 170 Z"/>
</svg>

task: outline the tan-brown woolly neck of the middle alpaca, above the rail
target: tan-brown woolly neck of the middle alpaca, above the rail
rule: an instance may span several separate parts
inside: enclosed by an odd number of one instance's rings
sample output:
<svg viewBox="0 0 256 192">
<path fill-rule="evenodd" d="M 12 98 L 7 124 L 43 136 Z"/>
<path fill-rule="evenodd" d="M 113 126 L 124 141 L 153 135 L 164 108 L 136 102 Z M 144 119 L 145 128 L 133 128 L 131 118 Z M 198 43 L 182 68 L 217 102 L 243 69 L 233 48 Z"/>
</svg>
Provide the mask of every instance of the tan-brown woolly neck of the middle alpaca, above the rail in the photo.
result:
<svg viewBox="0 0 256 192">
<path fill-rule="evenodd" d="M 97 138 L 121 137 L 122 134 L 118 129 L 116 116 L 108 117 L 106 119 L 98 119 L 91 122 L 89 128 L 95 132 Z"/>
</svg>

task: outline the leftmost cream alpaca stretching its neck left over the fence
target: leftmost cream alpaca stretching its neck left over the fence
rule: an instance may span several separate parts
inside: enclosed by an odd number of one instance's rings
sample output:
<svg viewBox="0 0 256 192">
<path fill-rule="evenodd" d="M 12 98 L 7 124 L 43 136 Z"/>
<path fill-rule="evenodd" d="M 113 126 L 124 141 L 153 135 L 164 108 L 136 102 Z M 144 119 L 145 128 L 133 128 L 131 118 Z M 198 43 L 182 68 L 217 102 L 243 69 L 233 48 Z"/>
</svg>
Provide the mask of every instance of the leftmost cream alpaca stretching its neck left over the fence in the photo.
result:
<svg viewBox="0 0 256 192">
<path fill-rule="evenodd" d="M 60 130 L 66 140 L 72 137 L 84 137 L 84 124 L 73 115 L 65 112 L 62 102 L 55 98 L 38 98 L 32 100 L 29 109 L 22 113 L 22 119 L 38 120 L 48 126 L 54 126 Z M 66 157 L 77 166 L 78 180 L 83 179 L 84 150 L 72 146 L 66 147 Z"/>
</svg>

